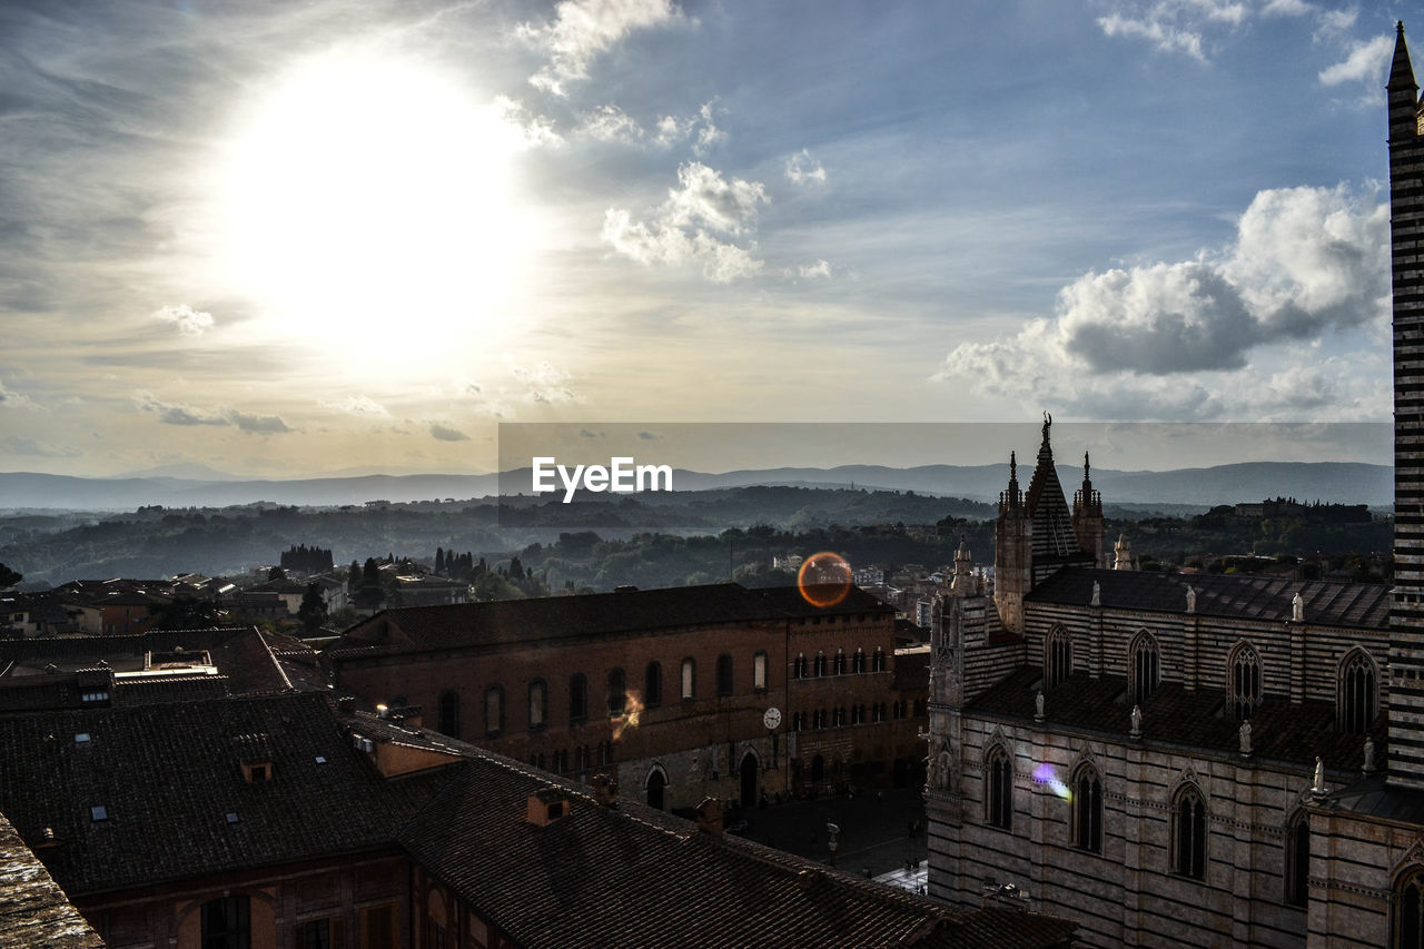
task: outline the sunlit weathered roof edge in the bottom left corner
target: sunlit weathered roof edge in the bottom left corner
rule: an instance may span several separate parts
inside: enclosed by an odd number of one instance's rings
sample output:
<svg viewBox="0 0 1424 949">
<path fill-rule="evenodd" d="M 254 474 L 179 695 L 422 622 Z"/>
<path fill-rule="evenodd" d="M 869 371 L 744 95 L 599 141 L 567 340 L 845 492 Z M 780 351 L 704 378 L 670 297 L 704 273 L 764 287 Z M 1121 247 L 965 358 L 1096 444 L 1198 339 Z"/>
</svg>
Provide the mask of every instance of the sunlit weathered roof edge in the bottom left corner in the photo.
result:
<svg viewBox="0 0 1424 949">
<path fill-rule="evenodd" d="M 0 946 L 100 949 L 103 945 L 0 814 Z"/>
</svg>

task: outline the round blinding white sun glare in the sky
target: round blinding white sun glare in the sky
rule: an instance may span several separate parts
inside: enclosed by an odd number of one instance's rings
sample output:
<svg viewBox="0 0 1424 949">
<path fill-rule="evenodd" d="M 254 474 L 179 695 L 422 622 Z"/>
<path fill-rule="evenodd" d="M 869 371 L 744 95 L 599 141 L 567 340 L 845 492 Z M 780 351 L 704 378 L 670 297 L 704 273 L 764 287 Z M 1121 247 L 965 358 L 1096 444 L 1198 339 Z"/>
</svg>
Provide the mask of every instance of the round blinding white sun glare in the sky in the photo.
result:
<svg viewBox="0 0 1424 949">
<path fill-rule="evenodd" d="M 488 342 L 525 245 L 515 147 L 451 77 L 309 60 L 256 100 L 221 162 L 224 269 L 273 329 L 335 352 Z"/>
</svg>

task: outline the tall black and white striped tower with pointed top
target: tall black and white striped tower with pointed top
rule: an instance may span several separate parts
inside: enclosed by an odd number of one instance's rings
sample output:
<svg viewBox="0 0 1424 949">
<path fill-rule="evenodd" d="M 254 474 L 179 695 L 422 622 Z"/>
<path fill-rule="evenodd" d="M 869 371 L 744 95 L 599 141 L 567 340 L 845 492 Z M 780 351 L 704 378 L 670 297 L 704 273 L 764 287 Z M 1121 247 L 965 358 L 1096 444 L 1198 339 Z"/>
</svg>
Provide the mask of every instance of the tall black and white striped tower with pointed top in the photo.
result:
<svg viewBox="0 0 1424 949">
<path fill-rule="evenodd" d="M 1388 781 L 1424 788 L 1424 140 L 1404 43 L 1390 67 L 1390 247 L 1394 292 L 1394 603 Z"/>
</svg>

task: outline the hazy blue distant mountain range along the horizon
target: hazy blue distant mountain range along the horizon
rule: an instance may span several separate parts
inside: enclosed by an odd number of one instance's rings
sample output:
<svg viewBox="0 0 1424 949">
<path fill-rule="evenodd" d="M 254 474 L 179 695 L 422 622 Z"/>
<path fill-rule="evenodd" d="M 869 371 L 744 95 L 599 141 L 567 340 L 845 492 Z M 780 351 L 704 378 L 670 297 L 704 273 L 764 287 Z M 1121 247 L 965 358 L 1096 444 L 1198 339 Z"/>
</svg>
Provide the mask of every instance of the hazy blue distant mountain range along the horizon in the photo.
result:
<svg viewBox="0 0 1424 949">
<path fill-rule="evenodd" d="M 209 469 L 211 472 L 211 469 Z M 1027 490 L 1032 467 L 1021 466 L 1020 483 Z M 1072 499 L 1082 482 L 1082 469 L 1059 466 L 1064 493 Z M 800 484 L 819 487 L 864 487 L 867 490 L 911 490 L 926 494 L 993 502 L 1008 480 L 1004 465 L 924 465 L 886 467 L 846 465 L 832 469 L 775 467 L 722 474 L 676 470 L 678 490 L 746 487 L 753 484 Z M 1387 465 L 1353 462 L 1247 462 L 1216 467 L 1171 472 L 1119 472 L 1095 469 L 1094 487 L 1104 502 L 1151 504 L 1232 504 L 1265 497 L 1294 497 L 1299 502 L 1327 502 L 1388 507 L 1394 502 L 1394 472 Z M 132 510 L 140 506 L 228 507 L 269 502 L 276 504 L 339 506 L 370 500 L 407 503 L 420 500 L 477 499 L 500 492 L 498 474 L 363 474 L 293 480 L 242 480 L 211 472 L 206 477 L 179 477 L 148 472 L 131 477 L 70 477 L 26 472 L 0 473 L 0 509 Z M 503 474 L 510 493 L 530 492 L 530 470 Z M 645 494 L 646 500 L 655 496 Z"/>
</svg>

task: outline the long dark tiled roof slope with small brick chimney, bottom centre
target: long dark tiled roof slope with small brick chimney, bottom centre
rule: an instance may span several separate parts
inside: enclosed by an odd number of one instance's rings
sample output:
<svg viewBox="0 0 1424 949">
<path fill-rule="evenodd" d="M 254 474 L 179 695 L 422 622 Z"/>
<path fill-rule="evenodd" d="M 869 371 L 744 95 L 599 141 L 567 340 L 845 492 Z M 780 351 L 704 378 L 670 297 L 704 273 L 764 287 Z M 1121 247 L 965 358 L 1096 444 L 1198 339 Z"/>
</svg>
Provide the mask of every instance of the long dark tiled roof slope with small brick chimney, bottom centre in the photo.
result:
<svg viewBox="0 0 1424 949">
<path fill-rule="evenodd" d="M 530 797 L 550 789 L 567 794 L 567 816 L 530 824 Z M 483 754 L 402 836 L 427 872 L 527 949 L 1055 946 L 1074 929 L 1032 913 L 953 911 L 635 801 L 609 809 Z"/>
</svg>

